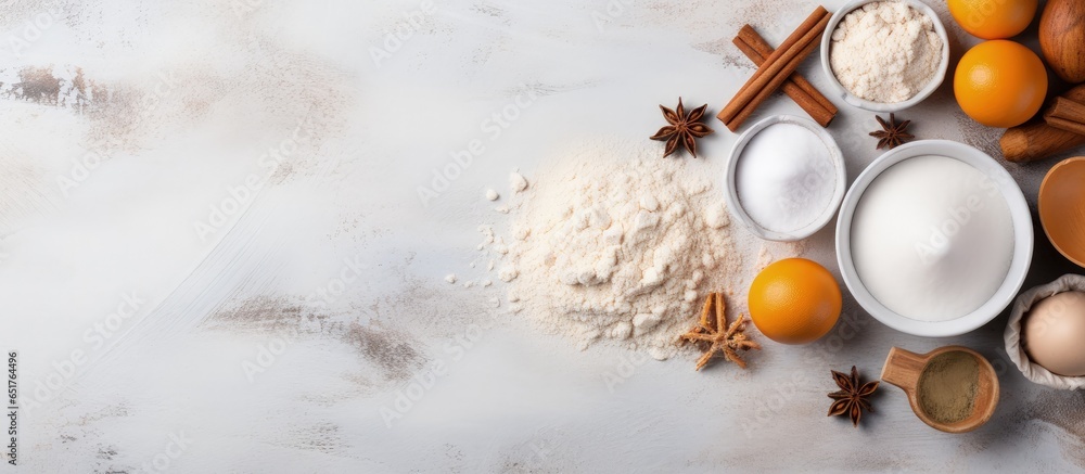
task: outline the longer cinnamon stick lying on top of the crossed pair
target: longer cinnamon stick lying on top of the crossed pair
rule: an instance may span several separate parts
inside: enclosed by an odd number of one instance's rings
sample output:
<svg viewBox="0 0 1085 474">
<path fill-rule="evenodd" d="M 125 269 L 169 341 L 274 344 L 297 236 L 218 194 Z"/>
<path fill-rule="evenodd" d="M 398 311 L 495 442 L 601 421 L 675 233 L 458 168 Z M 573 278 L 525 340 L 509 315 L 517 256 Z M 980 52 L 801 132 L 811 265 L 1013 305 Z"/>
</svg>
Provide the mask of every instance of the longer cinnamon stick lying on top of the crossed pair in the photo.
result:
<svg viewBox="0 0 1085 474">
<path fill-rule="evenodd" d="M 799 64 L 821 42 L 821 33 L 829 23 L 829 12 L 818 5 L 814 13 L 780 44 L 716 116 L 735 131 L 765 102 Z"/>
</svg>

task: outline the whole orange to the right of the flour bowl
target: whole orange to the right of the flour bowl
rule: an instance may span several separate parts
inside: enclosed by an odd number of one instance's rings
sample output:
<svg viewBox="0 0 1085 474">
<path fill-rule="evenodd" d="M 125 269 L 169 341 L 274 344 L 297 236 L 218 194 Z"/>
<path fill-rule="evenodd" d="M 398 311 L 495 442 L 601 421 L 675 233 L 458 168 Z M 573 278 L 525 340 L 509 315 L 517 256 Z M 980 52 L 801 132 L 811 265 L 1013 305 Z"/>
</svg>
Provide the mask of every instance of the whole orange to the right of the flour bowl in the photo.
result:
<svg viewBox="0 0 1085 474">
<path fill-rule="evenodd" d="M 960 59 L 953 91 L 960 108 L 975 121 L 1014 127 L 1044 105 L 1047 69 L 1029 48 L 1005 39 L 984 41 Z"/>
</svg>

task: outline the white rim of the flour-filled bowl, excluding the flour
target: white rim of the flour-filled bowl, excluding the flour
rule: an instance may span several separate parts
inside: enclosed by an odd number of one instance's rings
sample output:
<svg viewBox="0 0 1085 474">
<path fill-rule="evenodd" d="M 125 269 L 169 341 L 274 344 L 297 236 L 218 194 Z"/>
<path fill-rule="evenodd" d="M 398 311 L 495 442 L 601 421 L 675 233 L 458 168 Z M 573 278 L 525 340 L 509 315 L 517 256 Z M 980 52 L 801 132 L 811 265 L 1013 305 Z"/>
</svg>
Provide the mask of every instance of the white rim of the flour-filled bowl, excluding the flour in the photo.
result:
<svg viewBox="0 0 1085 474">
<path fill-rule="evenodd" d="M 825 28 L 825 33 L 821 35 L 821 71 L 825 72 L 826 78 L 829 79 L 832 95 L 839 97 L 848 105 L 870 112 L 899 112 L 922 102 L 924 99 L 934 93 L 939 86 L 942 86 L 942 81 L 946 78 L 946 72 L 949 71 L 949 35 L 946 34 L 946 28 L 942 25 L 942 21 L 939 20 L 937 13 L 934 13 L 934 10 L 931 10 L 931 8 L 927 7 L 926 3 L 919 0 L 891 0 L 907 3 L 911 8 L 931 18 L 934 23 L 934 31 L 939 34 L 939 38 L 942 38 L 942 62 L 939 63 L 939 71 L 934 73 L 934 77 L 931 78 L 931 82 L 920 90 L 919 93 L 904 102 L 873 102 L 855 97 L 852 92 L 844 88 L 844 85 L 840 84 L 840 80 L 837 79 L 837 75 L 832 74 L 832 65 L 829 63 L 829 50 L 832 48 L 832 31 L 837 29 L 837 25 L 844 18 L 844 15 L 851 13 L 859 7 L 867 3 L 873 3 L 876 1 L 883 0 L 853 0 L 837 10 L 837 13 L 832 14 L 829 18 L 829 24 Z"/>
</svg>

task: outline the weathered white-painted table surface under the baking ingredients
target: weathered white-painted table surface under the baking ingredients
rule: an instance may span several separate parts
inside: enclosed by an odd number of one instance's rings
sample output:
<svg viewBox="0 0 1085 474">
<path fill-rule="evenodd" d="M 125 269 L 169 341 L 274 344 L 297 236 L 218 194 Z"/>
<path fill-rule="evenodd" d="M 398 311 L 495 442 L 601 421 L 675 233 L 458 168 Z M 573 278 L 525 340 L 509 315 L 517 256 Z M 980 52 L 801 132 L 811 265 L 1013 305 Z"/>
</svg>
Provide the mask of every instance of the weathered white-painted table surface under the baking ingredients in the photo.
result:
<svg viewBox="0 0 1085 474">
<path fill-rule="evenodd" d="M 974 39 L 929 3 L 959 56 Z M 766 342 L 748 371 L 698 373 L 693 354 L 579 351 L 494 309 L 500 283 L 444 281 L 484 273 L 476 227 L 507 221 L 487 187 L 514 168 L 534 179 L 577 143 L 646 140 L 678 95 L 714 115 L 753 72 L 738 28 L 778 43 L 814 7 L 0 2 L 0 349 L 17 350 L 20 384 L 7 470 L 1085 469 L 1085 397 L 1009 366 L 1005 315 L 930 340 L 846 297 L 822 342 Z M 816 59 L 802 72 L 826 90 Z M 949 82 L 902 117 L 997 156 L 1000 130 L 963 116 Z M 537 99 L 487 128 L 526 91 Z M 830 130 L 854 179 L 878 155 L 876 124 L 840 105 Z M 757 116 L 774 113 L 802 111 L 777 97 Z M 712 125 L 705 159 L 680 159 L 718 175 L 736 136 Z M 423 205 L 418 188 L 472 140 L 484 151 Z M 1033 206 L 1054 163 L 1007 164 Z M 1076 271 L 1036 242 L 1026 287 Z M 802 252 L 835 271 L 831 228 Z M 826 418 L 830 369 L 875 377 L 894 345 L 945 344 L 999 369 L 983 428 L 929 428 L 888 385 L 860 428 Z"/>
</svg>

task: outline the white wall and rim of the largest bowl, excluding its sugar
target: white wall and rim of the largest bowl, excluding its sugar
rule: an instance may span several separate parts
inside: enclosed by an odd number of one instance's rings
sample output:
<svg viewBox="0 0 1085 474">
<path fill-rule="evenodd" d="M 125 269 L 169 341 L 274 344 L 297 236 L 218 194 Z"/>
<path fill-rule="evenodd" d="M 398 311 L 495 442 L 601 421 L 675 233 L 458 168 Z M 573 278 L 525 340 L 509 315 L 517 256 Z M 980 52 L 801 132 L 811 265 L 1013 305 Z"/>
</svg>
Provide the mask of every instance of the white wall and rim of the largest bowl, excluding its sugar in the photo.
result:
<svg viewBox="0 0 1085 474">
<path fill-rule="evenodd" d="M 991 299 L 974 311 L 948 321 L 919 321 L 886 308 L 864 286 L 855 270 L 855 264 L 852 261 L 852 217 L 855 215 L 855 208 L 859 200 L 863 198 L 867 187 L 891 166 L 923 155 L 959 159 L 986 175 L 996 183 L 1003 197 L 1006 198 L 1013 221 L 1013 257 L 1003 284 L 998 286 Z M 897 331 L 917 336 L 945 337 L 965 334 L 997 317 L 1021 290 L 1021 284 L 1024 283 L 1024 278 L 1029 273 L 1029 265 L 1032 262 L 1032 214 L 1029 212 L 1029 203 L 1025 202 L 1024 194 L 1021 193 L 1021 188 L 1018 187 L 1013 177 L 987 154 L 969 145 L 948 140 L 920 140 L 906 143 L 875 159 L 847 190 L 847 195 L 844 196 L 844 202 L 840 207 L 840 218 L 837 220 L 837 262 L 840 265 L 840 273 L 844 279 L 844 284 L 852 292 L 852 296 L 875 319 Z M 923 296 L 916 295 L 917 298 Z"/>
</svg>

